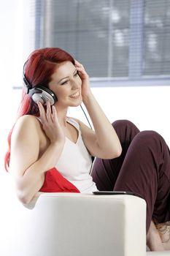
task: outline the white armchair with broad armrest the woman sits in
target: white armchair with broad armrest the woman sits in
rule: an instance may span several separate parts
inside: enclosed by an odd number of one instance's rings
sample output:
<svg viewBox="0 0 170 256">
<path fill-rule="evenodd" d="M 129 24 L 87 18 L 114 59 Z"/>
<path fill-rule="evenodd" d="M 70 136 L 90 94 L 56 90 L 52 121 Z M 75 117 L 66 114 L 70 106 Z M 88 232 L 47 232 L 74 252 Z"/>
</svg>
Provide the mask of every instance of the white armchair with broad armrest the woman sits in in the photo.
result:
<svg viewBox="0 0 170 256">
<path fill-rule="evenodd" d="M 38 193 L 2 202 L 2 256 L 163 256 L 146 252 L 146 203 L 133 195 Z"/>
</svg>

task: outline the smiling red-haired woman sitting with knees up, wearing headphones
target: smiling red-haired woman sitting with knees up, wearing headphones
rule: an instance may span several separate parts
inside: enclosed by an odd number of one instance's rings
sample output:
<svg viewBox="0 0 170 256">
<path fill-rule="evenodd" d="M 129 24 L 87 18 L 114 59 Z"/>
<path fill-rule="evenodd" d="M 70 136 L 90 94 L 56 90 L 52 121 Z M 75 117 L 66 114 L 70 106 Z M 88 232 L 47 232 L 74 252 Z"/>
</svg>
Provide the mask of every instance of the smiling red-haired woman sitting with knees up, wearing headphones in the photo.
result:
<svg viewBox="0 0 170 256">
<path fill-rule="evenodd" d="M 110 124 L 90 90 L 84 67 L 64 50 L 35 50 L 24 65 L 23 80 L 18 120 L 5 157 L 18 198 L 30 202 L 53 167 L 82 193 L 97 188 L 139 193 L 147 202 L 148 246 L 170 249 L 170 158 L 163 138 L 156 132 L 139 132 L 130 121 Z M 82 102 L 94 131 L 67 116 L 69 106 Z M 93 180 L 91 156 L 96 157 Z"/>
</svg>

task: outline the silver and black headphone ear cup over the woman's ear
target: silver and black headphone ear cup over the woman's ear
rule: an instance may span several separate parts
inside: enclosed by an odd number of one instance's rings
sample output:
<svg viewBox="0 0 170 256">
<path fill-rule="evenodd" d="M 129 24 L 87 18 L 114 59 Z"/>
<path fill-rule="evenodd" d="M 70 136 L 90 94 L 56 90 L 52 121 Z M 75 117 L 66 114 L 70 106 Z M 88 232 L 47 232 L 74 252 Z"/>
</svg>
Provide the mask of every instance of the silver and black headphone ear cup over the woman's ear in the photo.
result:
<svg viewBox="0 0 170 256">
<path fill-rule="evenodd" d="M 34 102 L 41 102 L 42 105 L 46 105 L 47 101 L 50 102 L 50 105 L 54 105 L 57 101 L 57 97 L 50 89 L 47 89 L 44 86 L 36 86 L 33 89 L 29 90 L 29 96 Z"/>
</svg>

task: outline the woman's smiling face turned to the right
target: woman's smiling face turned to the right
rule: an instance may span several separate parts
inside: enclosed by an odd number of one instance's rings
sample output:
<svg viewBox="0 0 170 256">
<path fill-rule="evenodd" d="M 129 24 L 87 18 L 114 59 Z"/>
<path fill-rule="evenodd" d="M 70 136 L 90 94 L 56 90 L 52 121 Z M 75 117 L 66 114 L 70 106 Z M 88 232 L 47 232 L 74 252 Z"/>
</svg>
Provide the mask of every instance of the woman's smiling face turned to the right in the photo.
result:
<svg viewBox="0 0 170 256">
<path fill-rule="evenodd" d="M 57 97 L 57 105 L 63 107 L 77 107 L 82 102 L 82 80 L 71 61 L 64 61 L 57 65 L 49 83 Z"/>
</svg>

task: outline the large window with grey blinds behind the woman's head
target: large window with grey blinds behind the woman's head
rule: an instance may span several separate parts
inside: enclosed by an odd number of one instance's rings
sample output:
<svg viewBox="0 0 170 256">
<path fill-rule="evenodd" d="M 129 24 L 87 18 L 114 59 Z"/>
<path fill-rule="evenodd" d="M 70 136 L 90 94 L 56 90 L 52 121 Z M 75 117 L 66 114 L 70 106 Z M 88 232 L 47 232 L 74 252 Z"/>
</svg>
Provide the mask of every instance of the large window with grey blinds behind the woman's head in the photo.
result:
<svg viewBox="0 0 170 256">
<path fill-rule="evenodd" d="M 83 63 L 94 85 L 133 80 L 169 83 L 170 0 L 35 3 L 35 48 L 67 50 Z"/>
</svg>

